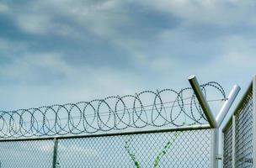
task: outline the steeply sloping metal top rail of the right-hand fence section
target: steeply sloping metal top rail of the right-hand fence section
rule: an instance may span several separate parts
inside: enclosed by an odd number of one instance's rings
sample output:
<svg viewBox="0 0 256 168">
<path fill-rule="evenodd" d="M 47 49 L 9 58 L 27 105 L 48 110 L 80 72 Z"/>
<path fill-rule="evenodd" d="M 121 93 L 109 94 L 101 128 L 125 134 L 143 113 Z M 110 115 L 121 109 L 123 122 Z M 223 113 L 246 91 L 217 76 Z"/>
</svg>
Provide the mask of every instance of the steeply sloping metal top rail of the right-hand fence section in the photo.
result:
<svg viewBox="0 0 256 168">
<path fill-rule="evenodd" d="M 249 84 L 247 90 L 246 90 L 246 91 L 244 92 L 244 94 L 243 94 L 243 97 L 242 97 L 241 100 L 238 102 L 237 107 L 236 107 L 235 110 L 233 111 L 232 115 L 230 115 L 230 117 L 228 118 L 226 125 L 225 125 L 225 126 L 223 127 L 223 129 L 222 129 L 222 132 L 225 132 L 225 131 L 229 128 L 229 126 L 231 126 L 231 124 L 232 124 L 232 116 L 233 116 L 233 115 L 237 115 L 237 113 L 239 112 L 239 109 L 243 108 L 243 106 L 244 106 L 244 101 L 246 100 L 246 98 L 247 98 L 247 96 L 248 96 L 248 94 L 249 94 L 250 92 L 253 92 L 253 81 L 250 82 L 250 84 Z"/>
</svg>

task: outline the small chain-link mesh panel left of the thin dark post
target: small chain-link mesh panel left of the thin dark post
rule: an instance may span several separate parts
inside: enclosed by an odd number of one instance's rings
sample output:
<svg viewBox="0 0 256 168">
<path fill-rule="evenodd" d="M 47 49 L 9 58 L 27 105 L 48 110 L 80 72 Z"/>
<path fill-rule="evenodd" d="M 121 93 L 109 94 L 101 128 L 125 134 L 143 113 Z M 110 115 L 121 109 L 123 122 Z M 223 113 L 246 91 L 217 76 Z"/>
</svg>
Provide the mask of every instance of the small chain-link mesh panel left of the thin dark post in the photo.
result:
<svg viewBox="0 0 256 168">
<path fill-rule="evenodd" d="M 51 167 L 53 144 L 53 140 L 3 141 L 0 143 L 0 167 Z"/>
</svg>

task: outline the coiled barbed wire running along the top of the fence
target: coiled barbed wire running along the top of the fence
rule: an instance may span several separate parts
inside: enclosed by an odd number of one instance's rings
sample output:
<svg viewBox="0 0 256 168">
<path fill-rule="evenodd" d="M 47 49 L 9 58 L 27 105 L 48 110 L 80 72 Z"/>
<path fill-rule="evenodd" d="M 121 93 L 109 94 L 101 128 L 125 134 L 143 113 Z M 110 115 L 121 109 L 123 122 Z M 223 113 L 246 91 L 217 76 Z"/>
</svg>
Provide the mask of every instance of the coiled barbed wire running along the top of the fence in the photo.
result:
<svg viewBox="0 0 256 168">
<path fill-rule="evenodd" d="M 207 96 L 208 87 L 226 100 L 221 85 L 210 81 L 200 86 Z M 191 87 L 143 91 L 135 95 L 106 97 L 90 102 L 54 104 L 40 108 L 0 111 L 0 138 L 41 137 L 67 134 L 93 134 L 111 130 L 145 127 L 179 127 L 207 123 Z M 189 92 L 189 93 L 188 93 Z M 184 97 L 189 94 L 190 97 Z M 172 101 L 166 99 L 173 98 Z M 146 103 L 147 102 L 147 103 Z"/>
</svg>

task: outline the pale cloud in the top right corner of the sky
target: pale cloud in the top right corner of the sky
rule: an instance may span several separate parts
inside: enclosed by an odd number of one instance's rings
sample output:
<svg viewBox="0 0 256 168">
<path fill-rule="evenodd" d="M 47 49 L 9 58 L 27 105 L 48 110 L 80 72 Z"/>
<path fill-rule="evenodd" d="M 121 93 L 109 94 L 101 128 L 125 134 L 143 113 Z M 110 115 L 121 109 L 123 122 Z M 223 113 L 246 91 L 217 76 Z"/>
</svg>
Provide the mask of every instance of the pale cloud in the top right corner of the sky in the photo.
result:
<svg viewBox="0 0 256 168">
<path fill-rule="evenodd" d="M 189 0 L 152 0 L 151 4 L 159 11 L 173 13 L 185 22 L 232 25 L 252 20 L 254 1 L 189 1 Z M 254 7 L 254 8 L 253 8 Z"/>
</svg>

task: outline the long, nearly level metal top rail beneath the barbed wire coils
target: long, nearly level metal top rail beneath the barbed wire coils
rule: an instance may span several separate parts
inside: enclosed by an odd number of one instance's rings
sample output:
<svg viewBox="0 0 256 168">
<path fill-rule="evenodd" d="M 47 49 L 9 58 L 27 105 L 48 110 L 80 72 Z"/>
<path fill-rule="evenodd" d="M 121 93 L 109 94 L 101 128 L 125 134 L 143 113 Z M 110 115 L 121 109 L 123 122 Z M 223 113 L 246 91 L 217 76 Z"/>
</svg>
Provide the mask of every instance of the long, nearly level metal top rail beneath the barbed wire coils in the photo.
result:
<svg viewBox="0 0 256 168">
<path fill-rule="evenodd" d="M 176 131 L 192 131 L 192 130 L 203 130 L 211 129 L 210 124 L 200 125 L 189 125 L 181 126 L 177 128 L 162 128 L 162 129 L 141 129 L 141 130 L 127 130 L 122 132 L 112 133 L 99 133 L 99 134 L 79 134 L 79 135 L 63 135 L 63 136 L 44 136 L 44 137 L 29 137 L 29 138 L 17 138 L 17 139 L 0 139 L 0 142 L 8 141 L 29 141 L 29 140 L 50 140 L 50 139 L 76 139 L 76 138 L 93 138 L 93 137 L 105 137 L 105 136 L 120 136 L 126 134 L 153 134 L 153 133 L 164 133 L 164 132 L 176 132 Z"/>
</svg>

